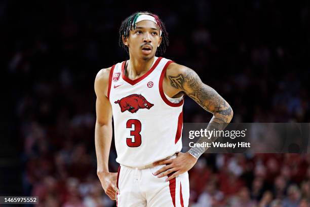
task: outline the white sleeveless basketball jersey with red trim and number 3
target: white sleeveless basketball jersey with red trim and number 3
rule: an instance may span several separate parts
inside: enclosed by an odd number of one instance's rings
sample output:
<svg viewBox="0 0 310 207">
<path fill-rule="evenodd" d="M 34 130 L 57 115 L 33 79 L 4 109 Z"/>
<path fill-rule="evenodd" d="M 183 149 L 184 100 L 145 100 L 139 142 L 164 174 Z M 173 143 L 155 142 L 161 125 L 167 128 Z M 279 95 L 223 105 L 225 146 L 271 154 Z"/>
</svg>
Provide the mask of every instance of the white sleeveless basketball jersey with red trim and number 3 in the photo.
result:
<svg viewBox="0 0 310 207">
<path fill-rule="evenodd" d="M 124 75 L 126 61 L 112 66 L 108 98 L 118 163 L 140 167 L 181 151 L 184 100 L 173 103 L 163 91 L 171 62 L 155 57 L 150 70 L 136 80 Z"/>
</svg>

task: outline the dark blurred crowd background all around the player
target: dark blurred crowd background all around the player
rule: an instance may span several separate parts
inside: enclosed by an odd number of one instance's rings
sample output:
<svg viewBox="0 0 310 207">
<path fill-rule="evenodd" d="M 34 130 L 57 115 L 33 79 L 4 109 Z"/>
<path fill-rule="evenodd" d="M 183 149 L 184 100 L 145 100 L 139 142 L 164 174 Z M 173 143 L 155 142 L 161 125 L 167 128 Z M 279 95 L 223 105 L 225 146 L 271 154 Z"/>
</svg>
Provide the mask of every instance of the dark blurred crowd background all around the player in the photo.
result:
<svg viewBox="0 0 310 207">
<path fill-rule="evenodd" d="M 39 196 L 38 206 L 115 205 L 96 176 L 93 84 L 101 68 L 128 59 L 118 29 L 136 11 L 161 17 L 170 37 L 164 57 L 216 89 L 234 110 L 232 122 L 310 122 L 306 2 L 127 4 L 0 3 L 7 40 L 0 64 L 11 83 L 23 195 Z M 184 122 L 210 118 L 186 97 Z M 297 154 L 204 155 L 189 171 L 191 206 L 309 206 L 309 163 Z"/>
</svg>

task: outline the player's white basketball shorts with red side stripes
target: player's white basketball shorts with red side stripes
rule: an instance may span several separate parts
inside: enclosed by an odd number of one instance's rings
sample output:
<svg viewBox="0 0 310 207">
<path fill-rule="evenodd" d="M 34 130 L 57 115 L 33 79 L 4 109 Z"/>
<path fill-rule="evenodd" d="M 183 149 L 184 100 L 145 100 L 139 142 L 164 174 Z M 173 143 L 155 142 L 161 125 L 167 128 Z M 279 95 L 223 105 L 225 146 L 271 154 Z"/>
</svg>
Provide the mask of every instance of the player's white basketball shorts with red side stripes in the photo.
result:
<svg viewBox="0 0 310 207">
<path fill-rule="evenodd" d="M 120 194 L 117 195 L 117 205 L 119 207 L 171 207 L 173 205 L 169 187 L 169 181 L 157 178 L 153 175 L 165 165 L 159 165 L 147 169 L 130 168 L 121 165 L 118 187 Z M 174 181 L 173 181 L 174 182 Z M 182 190 L 182 199 L 181 193 Z M 188 173 L 175 178 L 175 187 L 172 187 L 172 194 L 175 196 L 175 206 L 188 206 L 189 201 L 189 181 Z"/>
</svg>

